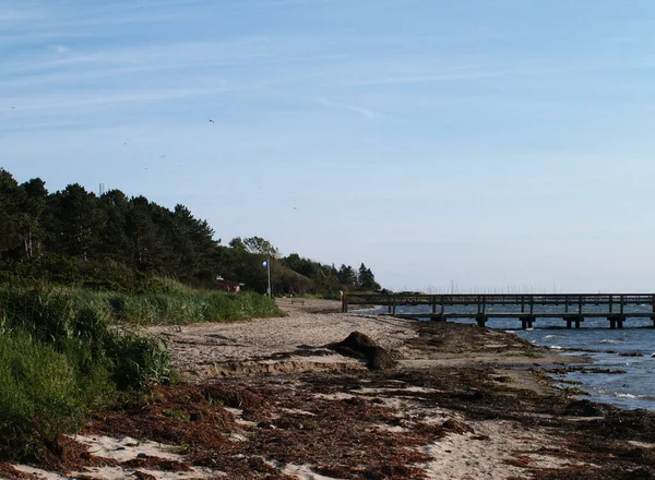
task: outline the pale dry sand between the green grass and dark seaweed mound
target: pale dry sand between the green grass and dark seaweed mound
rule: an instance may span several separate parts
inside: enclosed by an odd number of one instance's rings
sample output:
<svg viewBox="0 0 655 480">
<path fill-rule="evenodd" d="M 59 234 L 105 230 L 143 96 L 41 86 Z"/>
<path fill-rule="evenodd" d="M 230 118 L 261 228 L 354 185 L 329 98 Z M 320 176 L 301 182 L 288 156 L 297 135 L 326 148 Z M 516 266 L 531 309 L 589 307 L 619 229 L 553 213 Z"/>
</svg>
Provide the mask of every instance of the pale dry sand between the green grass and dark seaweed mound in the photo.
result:
<svg viewBox="0 0 655 480">
<path fill-rule="evenodd" d="M 325 345 L 357 331 L 394 350 L 418 336 L 415 321 L 332 313 L 338 302 L 303 302 L 301 305 L 282 299 L 279 304 L 288 316 L 281 319 L 157 326 L 147 332 L 168 343 L 175 367 L 191 381 L 236 374 L 365 370 L 361 361 L 337 355 Z"/>
</svg>

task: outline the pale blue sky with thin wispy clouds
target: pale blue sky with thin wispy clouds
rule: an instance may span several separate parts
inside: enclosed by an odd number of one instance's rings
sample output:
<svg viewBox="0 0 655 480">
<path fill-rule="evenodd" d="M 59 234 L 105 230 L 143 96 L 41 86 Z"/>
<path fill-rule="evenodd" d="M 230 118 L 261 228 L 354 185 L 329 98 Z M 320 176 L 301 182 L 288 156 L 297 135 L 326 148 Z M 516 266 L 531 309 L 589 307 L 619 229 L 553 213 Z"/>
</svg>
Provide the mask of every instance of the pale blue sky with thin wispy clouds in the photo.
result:
<svg viewBox="0 0 655 480">
<path fill-rule="evenodd" d="M 0 167 L 394 290 L 655 291 L 651 0 L 0 0 Z"/>
</svg>

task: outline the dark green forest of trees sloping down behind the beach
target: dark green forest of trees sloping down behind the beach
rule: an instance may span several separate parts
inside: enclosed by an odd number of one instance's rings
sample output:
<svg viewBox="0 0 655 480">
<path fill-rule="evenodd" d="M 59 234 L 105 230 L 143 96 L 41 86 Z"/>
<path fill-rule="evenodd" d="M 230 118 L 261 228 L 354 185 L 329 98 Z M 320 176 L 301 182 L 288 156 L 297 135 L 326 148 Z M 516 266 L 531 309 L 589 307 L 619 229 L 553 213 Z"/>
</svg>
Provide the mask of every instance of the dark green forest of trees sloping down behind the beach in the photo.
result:
<svg viewBox="0 0 655 480">
<path fill-rule="evenodd" d="M 119 190 L 98 196 L 78 183 L 50 193 L 41 179 L 19 183 L 0 168 L 0 279 L 140 291 L 162 277 L 214 288 L 222 276 L 264 292 L 267 259 L 274 295 L 380 289 L 364 263 L 337 268 L 297 253 L 283 256 L 260 237 L 224 245 L 183 205 L 171 211 Z"/>
</svg>

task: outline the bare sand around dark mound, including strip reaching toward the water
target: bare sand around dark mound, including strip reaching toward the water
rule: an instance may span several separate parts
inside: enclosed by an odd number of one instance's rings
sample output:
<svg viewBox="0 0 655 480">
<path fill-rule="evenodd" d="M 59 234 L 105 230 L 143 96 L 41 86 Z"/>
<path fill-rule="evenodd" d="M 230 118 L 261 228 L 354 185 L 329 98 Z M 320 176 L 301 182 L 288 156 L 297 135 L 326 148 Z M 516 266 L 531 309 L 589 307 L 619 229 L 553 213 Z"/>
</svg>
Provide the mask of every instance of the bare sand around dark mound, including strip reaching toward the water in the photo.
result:
<svg viewBox="0 0 655 480">
<path fill-rule="evenodd" d="M 394 351 L 401 365 L 408 368 L 545 365 L 574 361 L 546 351 L 539 357 L 526 357 L 524 344 L 509 343 L 507 335 L 492 331 L 486 331 L 488 337 L 481 350 L 468 350 L 464 346 L 444 351 L 410 341 L 419 337 L 415 320 L 365 311 L 341 313 L 340 303 L 330 300 L 279 299 L 278 305 L 288 316 L 239 323 L 156 326 L 147 332 L 168 343 L 175 367 L 190 381 L 239 374 L 362 370 L 364 362 L 325 348 L 352 332 L 360 332 L 379 346 Z"/>
</svg>

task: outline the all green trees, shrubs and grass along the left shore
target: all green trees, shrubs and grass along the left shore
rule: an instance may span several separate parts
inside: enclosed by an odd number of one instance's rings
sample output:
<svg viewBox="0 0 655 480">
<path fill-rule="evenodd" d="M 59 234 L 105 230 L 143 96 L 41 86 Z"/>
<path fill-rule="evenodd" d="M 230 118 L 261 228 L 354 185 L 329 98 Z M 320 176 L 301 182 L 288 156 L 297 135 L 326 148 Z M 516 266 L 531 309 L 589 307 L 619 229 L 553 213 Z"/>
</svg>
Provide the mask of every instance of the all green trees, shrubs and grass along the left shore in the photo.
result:
<svg viewBox="0 0 655 480">
<path fill-rule="evenodd" d="M 258 293 L 264 260 L 278 295 L 380 287 L 364 264 L 283 257 L 260 237 L 223 245 L 183 205 L 79 184 L 49 193 L 0 168 L 0 459 L 53 451 L 116 394 L 169 382 L 166 346 L 134 326 L 279 315 Z M 218 275 L 250 291 L 218 291 Z"/>
</svg>

